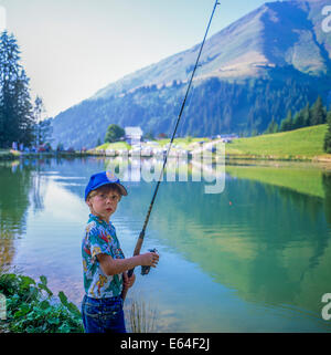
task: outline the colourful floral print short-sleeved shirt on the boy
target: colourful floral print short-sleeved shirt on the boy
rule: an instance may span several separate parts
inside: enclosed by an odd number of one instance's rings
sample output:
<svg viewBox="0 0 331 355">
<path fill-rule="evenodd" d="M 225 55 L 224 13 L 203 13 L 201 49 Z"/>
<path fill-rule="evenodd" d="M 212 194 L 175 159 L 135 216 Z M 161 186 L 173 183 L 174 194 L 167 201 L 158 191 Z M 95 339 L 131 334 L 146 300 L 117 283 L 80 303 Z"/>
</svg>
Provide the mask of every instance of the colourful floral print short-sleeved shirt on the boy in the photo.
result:
<svg viewBox="0 0 331 355">
<path fill-rule="evenodd" d="M 113 223 L 107 223 L 90 213 L 82 242 L 84 289 L 86 295 L 93 299 L 118 296 L 122 289 L 122 275 L 107 276 L 96 258 L 99 253 L 108 254 L 113 259 L 125 258 Z"/>
</svg>

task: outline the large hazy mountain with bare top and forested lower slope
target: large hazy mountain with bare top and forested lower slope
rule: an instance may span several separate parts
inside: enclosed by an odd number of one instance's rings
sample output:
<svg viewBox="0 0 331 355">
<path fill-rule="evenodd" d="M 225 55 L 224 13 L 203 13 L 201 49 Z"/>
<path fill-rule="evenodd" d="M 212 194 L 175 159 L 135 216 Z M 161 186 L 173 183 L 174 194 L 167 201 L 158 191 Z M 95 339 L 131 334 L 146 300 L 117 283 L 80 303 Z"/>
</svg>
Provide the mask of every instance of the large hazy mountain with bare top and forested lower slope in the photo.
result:
<svg viewBox="0 0 331 355">
<path fill-rule="evenodd" d="M 268 2 L 206 42 L 180 135 L 263 132 L 318 95 L 330 97 L 329 0 Z M 170 134 L 200 44 L 99 90 L 53 121 L 55 143 L 93 147 L 111 123 Z M 328 96 L 329 95 L 329 96 Z M 79 134 L 77 134 L 79 133 Z"/>
</svg>

